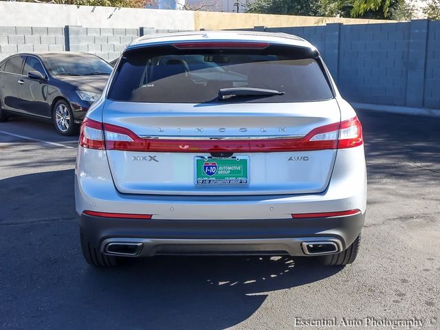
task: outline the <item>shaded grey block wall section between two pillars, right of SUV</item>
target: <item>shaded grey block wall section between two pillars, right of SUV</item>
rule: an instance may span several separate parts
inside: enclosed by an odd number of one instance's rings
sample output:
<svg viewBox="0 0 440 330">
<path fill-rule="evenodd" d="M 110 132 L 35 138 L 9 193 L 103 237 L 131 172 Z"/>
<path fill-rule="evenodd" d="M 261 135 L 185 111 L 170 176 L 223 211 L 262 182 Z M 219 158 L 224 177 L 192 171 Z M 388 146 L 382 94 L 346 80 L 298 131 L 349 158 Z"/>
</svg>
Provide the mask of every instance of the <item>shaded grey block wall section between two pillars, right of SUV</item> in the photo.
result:
<svg viewBox="0 0 440 330">
<path fill-rule="evenodd" d="M 338 85 L 349 100 L 406 105 L 410 23 L 344 25 Z"/>
</svg>

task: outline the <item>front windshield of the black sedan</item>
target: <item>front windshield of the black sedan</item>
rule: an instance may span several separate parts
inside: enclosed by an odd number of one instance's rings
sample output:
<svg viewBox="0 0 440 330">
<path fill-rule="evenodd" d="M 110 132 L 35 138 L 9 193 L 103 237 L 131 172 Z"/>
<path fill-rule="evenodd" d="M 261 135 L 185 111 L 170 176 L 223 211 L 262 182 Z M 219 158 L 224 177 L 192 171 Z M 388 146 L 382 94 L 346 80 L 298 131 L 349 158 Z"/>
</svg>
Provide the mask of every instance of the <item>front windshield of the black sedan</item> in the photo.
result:
<svg viewBox="0 0 440 330">
<path fill-rule="evenodd" d="M 93 76 L 111 74 L 109 63 L 94 55 L 63 54 L 46 58 L 49 71 L 55 76 Z"/>
</svg>

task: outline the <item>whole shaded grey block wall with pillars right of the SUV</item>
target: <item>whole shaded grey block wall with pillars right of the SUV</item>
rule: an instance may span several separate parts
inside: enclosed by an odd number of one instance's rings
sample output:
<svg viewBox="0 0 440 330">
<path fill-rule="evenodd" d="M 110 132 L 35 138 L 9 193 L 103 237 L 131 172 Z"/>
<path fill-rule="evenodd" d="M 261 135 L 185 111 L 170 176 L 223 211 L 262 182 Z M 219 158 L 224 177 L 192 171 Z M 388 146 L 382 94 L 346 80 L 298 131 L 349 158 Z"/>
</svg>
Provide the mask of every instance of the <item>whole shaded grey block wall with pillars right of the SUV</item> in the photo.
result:
<svg viewBox="0 0 440 330">
<path fill-rule="evenodd" d="M 350 102 L 440 109 L 440 21 L 254 30 L 310 41 Z"/>
</svg>

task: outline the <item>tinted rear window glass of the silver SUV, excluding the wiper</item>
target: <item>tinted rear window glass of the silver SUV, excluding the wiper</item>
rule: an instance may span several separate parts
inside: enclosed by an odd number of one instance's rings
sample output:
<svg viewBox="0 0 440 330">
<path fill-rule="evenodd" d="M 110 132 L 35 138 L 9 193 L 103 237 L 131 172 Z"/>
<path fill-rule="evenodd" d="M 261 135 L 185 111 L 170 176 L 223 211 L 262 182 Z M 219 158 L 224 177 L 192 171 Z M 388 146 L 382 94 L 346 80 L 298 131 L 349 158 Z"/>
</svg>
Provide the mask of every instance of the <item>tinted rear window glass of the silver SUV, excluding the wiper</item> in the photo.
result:
<svg viewBox="0 0 440 330">
<path fill-rule="evenodd" d="M 283 94 L 218 98 L 220 89 L 246 87 Z M 160 103 L 306 102 L 332 97 L 316 53 L 285 46 L 134 50 L 122 56 L 109 92 L 111 100 Z"/>
</svg>

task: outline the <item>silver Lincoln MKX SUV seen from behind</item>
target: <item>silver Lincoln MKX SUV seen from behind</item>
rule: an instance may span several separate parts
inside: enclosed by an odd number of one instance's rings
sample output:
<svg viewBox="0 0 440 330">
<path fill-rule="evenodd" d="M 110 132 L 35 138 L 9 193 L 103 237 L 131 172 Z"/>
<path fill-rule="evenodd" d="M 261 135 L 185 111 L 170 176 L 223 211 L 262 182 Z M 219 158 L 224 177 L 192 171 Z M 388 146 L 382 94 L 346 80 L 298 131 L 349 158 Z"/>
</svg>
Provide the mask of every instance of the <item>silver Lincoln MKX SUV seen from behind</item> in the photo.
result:
<svg viewBox="0 0 440 330">
<path fill-rule="evenodd" d="M 158 254 L 352 263 L 366 210 L 362 126 L 297 36 L 143 36 L 80 129 L 76 211 L 96 266 Z"/>
</svg>

